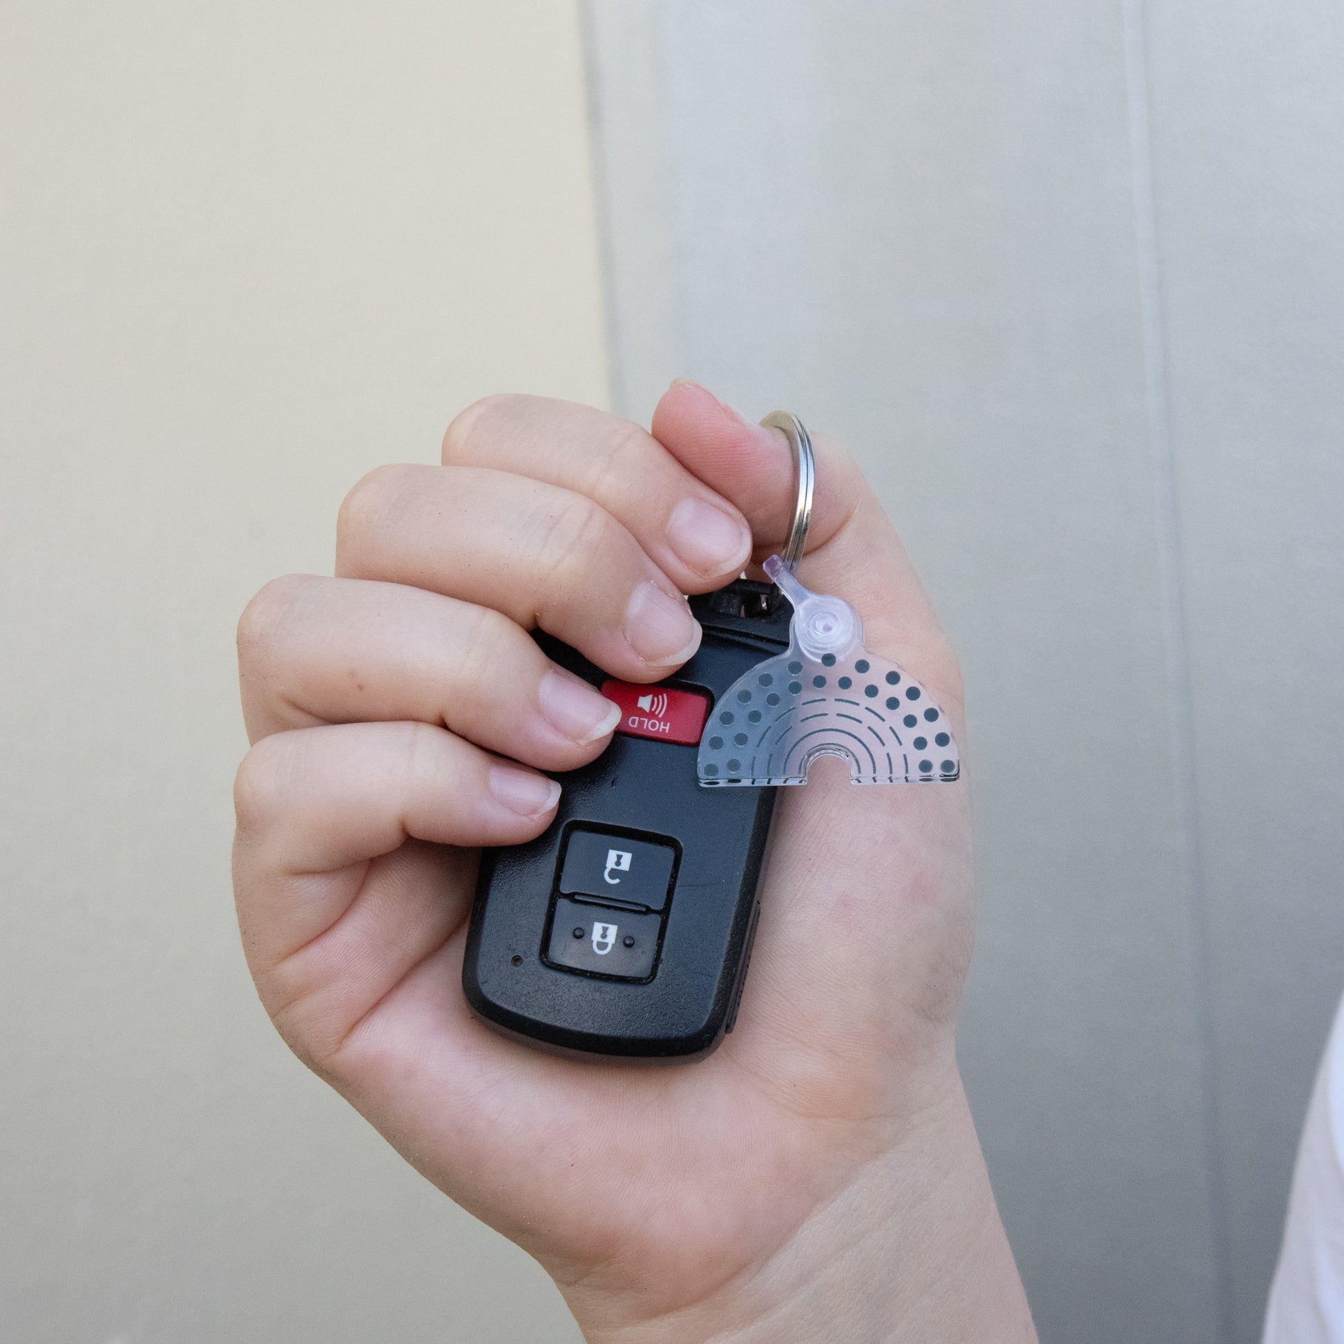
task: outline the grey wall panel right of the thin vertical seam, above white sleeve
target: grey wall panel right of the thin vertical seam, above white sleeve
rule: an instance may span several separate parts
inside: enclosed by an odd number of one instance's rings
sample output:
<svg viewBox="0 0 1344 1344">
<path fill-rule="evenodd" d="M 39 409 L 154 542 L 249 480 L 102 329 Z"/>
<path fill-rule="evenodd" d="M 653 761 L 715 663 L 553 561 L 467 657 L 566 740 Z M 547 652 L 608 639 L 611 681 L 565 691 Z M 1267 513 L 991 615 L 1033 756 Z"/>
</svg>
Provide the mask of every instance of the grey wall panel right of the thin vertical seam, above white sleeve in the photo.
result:
<svg viewBox="0 0 1344 1344">
<path fill-rule="evenodd" d="M 1238 1341 L 1344 988 L 1344 11 L 1150 9 Z"/>
</svg>

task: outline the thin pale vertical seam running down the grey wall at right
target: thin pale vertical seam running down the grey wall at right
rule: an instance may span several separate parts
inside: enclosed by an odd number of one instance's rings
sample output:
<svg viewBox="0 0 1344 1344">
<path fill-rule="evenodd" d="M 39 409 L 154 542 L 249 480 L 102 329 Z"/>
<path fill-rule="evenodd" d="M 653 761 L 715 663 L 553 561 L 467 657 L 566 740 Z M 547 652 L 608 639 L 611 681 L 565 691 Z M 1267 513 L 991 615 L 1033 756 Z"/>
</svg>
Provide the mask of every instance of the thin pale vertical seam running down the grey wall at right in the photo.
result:
<svg viewBox="0 0 1344 1344">
<path fill-rule="evenodd" d="M 1200 1056 L 1208 1214 L 1212 1223 L 1216 1337 L 1231 1341 L 1234 1309 L 1227 1246 L 1223 1116 L 1218 1087 L 1218 1042 L 1214 1023 L 1208 894 L 1200 827 L 1193 681 L 1187 629 L 1184 539 L 1176 452 L 1171 425 L 1171 384 L 1167 359 L 1167 314 L 1159 242 L 1157 190 L 1153 165 L 1152 101 L 1148 85 L 1148 11 L 1145 0 L 1121 0 L 1125 44 L 1129 163 L 1134 200 L 1138 304 L 1144 340 L 1144 382 L 1148 448 L 1159 531 L 1163 649 L 1167 712 L 1171 734 L 1173 806 L 1180 836 L 1181 887 L 1188 894 L 1195 976 L 1195 1030 Z"/>
</svg>

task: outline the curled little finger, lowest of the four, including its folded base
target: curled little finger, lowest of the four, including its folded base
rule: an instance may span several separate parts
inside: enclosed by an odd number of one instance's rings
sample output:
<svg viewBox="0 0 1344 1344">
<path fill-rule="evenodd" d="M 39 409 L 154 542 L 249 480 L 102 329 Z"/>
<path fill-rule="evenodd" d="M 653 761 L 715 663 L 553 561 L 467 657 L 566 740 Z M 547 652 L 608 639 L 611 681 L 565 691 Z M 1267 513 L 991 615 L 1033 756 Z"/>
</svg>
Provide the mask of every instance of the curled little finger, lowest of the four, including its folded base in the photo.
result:
<svg viewBox="0 0 1344 1344">
<path fill-rule="evenodd" d="M 249 966 L 290 1044 L 328 1058 L 461 925 L 476 860 L 444 847 L 531 840 L 559 792 L 423 723 L 254 746 L 234 794 L 234 890 Z"/>
</svg>

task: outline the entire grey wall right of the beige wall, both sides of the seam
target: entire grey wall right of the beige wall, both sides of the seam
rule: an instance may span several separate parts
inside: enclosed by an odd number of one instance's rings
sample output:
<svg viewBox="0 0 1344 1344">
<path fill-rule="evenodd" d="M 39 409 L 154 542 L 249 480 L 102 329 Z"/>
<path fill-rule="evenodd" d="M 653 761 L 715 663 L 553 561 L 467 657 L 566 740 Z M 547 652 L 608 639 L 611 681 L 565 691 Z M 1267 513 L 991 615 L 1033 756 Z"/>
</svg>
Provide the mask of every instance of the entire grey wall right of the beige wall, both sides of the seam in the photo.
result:
<svg viewBox="0 0 1344 1344">
<path fill-rule="evenodd" d="M 663 110 L 598 137 L 671 145 L 612 227 L 672 218 L 677 297 L 624 409 L 841 433 L 962 653 L 962 1054 L 1043 1337 L 1253 1340 L 1344 981 L 1340 16 L 638 8 Z"/>
</svg>

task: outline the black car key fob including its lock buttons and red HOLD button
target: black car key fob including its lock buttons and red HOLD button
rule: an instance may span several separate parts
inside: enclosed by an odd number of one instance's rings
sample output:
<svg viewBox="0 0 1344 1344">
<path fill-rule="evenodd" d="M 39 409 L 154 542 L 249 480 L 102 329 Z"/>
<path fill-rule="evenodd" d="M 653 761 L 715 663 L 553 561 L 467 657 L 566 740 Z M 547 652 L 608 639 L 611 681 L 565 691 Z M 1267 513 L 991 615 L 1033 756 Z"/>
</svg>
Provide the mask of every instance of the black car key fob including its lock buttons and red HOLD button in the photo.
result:
<svg viewBox="0 0 1344 1344">
<path fill-rule="evenodd" d="M 481 856 L 462 988 L 505 1032 L 562 1051 L 687 1059 L 732 1030 L 775 790 L 702 788 L 696 753 L 716 700 L 789 646 L 793 609 L 747 579 L 691 609 L 700 648 L 657 685 L 613 681 L 536 636 L 622 715 L 601 757 L 556 777 L 564 792 L 546 832 Z"/>
</svg>

